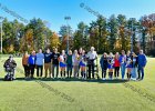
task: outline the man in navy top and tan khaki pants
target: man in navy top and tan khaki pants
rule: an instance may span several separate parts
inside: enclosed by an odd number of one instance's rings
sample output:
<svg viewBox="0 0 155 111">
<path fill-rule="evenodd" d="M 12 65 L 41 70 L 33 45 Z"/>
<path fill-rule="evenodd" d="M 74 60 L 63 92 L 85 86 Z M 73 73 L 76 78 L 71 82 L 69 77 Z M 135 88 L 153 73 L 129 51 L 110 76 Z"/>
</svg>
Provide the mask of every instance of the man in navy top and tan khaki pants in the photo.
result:
<svg viewBox="0 0 155 111">
<path fill-rule="evenodd" d="M 46 52 L 44 53 L 44 72 L 45 77 L 48 77 L 48 71 L 49 71 L 49 77 L 51 78 L 51 59 L 52 59 L 52 53 L 50 52 L 50 49 L 46 49 Z"/>
</svg>

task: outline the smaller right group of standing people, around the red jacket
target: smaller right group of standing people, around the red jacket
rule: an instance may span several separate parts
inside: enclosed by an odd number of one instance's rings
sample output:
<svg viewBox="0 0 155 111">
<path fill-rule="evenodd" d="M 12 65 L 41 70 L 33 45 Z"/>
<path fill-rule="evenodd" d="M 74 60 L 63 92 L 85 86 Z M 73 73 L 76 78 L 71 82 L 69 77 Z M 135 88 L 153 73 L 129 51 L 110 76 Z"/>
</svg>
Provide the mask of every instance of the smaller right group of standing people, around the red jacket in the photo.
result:
<svg viewBox="0 0 155 111">
<path fill-rule="evenodd" d="M 125 54 L 124 50 L 122 50 L 121 56 L 118 52 L 116 52 L 115 56 L 113 56 L 112 52 L 108 56 L 107 53 L 104 53 L 100 60 L 102 79 L 105 80 L 107 69 L 108 79 L 113 79 L 113 73 L 114 78 L 117 79 L 121 69 L 122 80 L 125 78 L 125 72 L 127 80 L 143 80 L 146 63 L 147 60 L 143 50 L 140 51 L 138 56 L 131 51 Z"/>
</svg>

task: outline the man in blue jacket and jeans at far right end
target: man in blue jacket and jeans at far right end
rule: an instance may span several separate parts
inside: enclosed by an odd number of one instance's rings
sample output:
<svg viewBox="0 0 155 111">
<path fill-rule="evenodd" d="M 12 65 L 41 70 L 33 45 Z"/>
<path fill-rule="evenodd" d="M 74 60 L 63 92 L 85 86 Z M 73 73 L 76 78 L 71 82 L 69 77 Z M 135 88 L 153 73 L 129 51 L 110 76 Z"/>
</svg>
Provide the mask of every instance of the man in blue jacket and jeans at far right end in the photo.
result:
<svg viewBox="0 0 155 111">
<path fill-rule="evenodd" d="M 140 51 L 140 54 L 137 57 L 138 61 L 138 78 L 137 80 L 144 79 L 144 68 L 147 63 L 146 56 L 143 53 L 143 50 Z"/>
</svg>

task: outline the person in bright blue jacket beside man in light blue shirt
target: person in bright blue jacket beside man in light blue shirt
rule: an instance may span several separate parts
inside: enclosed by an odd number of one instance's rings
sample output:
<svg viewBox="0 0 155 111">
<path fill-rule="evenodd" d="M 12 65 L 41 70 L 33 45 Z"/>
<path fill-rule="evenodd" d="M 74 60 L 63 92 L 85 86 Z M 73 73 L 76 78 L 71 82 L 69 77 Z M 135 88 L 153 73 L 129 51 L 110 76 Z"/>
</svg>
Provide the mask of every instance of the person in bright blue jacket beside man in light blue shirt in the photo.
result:
<svg viewBox="0 0 155 111">
<path fill-rule="evenodd" d="M 37 61 L 35 51 L 32 51 L 32 53 L 31 53 L 31 56 L 29 57 L 29 60 L 28 60 L 28 64 L 30 67 L 31 78 L 33 78 L 33 75 L 34 75 L 35 61 Z"/>
</svg>

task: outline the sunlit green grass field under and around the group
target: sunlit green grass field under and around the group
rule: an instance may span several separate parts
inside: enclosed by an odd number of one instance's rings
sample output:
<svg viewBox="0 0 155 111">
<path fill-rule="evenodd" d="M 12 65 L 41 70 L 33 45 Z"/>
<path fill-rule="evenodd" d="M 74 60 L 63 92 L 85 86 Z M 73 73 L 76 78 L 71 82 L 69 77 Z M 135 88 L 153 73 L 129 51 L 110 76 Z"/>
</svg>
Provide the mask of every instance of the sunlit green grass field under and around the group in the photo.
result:
<svg viewBox="0 0 155 111">
<path fill-rule="evenodd" d="M 0 60 L 0 78 L 4 77 Z M 22 70 L 21 58 L 16 58 Z M 22 71 L 0 80 L 0 111 L 155 111 L 155 59 L 148 58 L 144 81 L 31 80 Z M 101 73 L 100 73 L 101 74 Z"/>
</svg>

